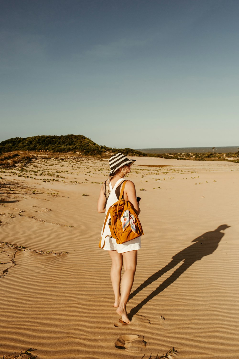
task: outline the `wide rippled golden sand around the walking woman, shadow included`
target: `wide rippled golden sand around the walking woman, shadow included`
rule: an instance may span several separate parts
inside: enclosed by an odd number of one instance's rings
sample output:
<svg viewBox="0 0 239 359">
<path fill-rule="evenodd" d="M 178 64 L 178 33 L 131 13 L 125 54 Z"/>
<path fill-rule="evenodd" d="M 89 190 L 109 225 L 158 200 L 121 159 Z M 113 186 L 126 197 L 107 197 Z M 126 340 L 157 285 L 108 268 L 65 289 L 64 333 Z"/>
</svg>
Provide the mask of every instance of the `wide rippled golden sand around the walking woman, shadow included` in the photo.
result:
<svg viewBox="0 0 239 359">
<path fill-rule="evenodd" d="M 142 249 L 113 308 L 96 209 L 107 160 L 37 159 L 0 173 L 0 356 L 239 358 L 239 166 L 135 157 Z M 27 358 L 27 357 L 26 357 Z"/>
</svg>

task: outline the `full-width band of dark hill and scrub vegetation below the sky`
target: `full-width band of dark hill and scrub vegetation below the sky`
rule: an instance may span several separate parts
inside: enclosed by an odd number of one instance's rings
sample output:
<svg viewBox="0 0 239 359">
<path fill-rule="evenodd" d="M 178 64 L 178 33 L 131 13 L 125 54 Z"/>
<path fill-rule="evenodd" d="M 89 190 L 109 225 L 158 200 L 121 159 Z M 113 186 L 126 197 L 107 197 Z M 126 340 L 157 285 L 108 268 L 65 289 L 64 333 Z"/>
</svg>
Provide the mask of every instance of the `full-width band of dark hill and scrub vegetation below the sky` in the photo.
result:
<svg viewBox="0 0 239 359">
<path fill-rule="evenodd" d="M 115 153 L 122 152 L 126 156 L 159 157 L 177 160 L 225 160 L 239 163 L 239 151 L 235 153 L 144 153 L 132 148 L 111 148 L 100 146 L 83 135 L 66 136 L 33 136 L 15 137 L 0 143 L 0 166 L 14 167 L 15 163 L 27 163 L 32 158 L 37 158 L 40 152 L 47 155 L 45 158 L 61 158 L 62 155 L 93 156 L 98 158 L 109 158 Z M 25 153 L 21 153 L 24 151 Z M 26 154 L 26 151 L 29 154 Z M 19 152 L 19 153 L 18 153 Z M 42 153 L 43 152 L 43 153 Z"/>
</svg>

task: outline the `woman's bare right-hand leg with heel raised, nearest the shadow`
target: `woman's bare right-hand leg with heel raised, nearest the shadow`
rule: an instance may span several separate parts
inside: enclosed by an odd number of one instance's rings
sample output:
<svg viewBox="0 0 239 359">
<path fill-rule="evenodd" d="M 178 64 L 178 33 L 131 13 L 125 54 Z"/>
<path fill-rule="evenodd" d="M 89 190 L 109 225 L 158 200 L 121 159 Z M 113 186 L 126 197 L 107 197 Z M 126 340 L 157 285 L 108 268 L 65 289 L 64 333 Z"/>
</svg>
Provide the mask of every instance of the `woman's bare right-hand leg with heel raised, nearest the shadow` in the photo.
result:
<svg viewBox="0 0 239 359">
<path fill-rule="evenodd" d="M 116 312 L 122 316 L 122 320 L 126 323 L 130 323 L 127 312 L 126 304 L 129 298 L 129 294 L 134 283 L 134 274 L 137 266 L 138 251 L 125 252 L 123 254 L 124 259 L 124 274 L 121 279 L 121 296 L 119 307 Z"/>
</svg>

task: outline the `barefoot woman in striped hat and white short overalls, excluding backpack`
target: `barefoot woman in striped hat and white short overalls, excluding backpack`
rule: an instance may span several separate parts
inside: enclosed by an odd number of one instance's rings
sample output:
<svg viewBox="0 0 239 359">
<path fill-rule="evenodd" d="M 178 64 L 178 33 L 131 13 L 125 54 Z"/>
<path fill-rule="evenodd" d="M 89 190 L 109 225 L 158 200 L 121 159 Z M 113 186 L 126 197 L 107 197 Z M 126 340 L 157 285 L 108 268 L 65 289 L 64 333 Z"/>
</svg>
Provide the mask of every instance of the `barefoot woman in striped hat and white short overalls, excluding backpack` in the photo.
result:
<svg viewBox="0 0 239 359">
<path fill-rule="evenodd" d="M 135 160 L 130 160 L 122 153 L 110 157 L 110 174 L 109 178 L 102 185 L 100 196 L 97 204 L 99 213 L 108 211 L 109 207 L 119 200 L 121 186 L 124 176 L 130 173 L 130 166 Z M 136 197 L 135 186 L 132 181 L 126 181 L 124 188 L 125 201 L 131 202 L 137 215 L 140 213 L 139 204 Z M 116 239 L 111 237 L 109 228 L 109 218 L 106 221 L 105 229 L 102 228 L 101 238 L 104 250 L 109 251 L 112 266 L 110 271 L 111 282 L 115 295 L 114 307 L 116 312 L 122 317 L 125 324 L 129 324 L 130 320 L 126 312 L 126 304 L 134 282 L 134 274 L 137 266 L 137 250 L 141 248 L 140 237 L 131 241 L 117 244 Z M 121 280 L 121 270 L 124 262 L 124 274 Z M 121 282 L 121 292 L 120 292 Z"/>
</svg>

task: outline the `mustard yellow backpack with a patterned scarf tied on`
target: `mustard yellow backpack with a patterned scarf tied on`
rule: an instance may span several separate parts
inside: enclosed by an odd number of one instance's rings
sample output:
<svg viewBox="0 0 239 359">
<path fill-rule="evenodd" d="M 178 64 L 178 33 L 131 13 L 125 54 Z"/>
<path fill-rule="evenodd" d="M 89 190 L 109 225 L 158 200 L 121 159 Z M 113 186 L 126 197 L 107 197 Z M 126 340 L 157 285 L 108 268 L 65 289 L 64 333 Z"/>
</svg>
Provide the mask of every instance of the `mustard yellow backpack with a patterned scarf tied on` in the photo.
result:
<svg viewBox="0 0 239 359">
<path fill-rule="evenodd" d="M 118 244 L 131 241 L 134 238 L 138 238 L 144 235 L 142 225 L 139 221 L 138 215 L 135 213 L 133 205 L 129 201 L 125 201 L 123 198 L 125 183 L 126 181 L 124 181 L 122 185 L 119 201 L 115 202 L 112 206 L 110 206 L 106 214 L 103 231 L 102 231 L 103 234 L 108 216 L 110 214 L 109 228 L 111 232 L 111 237 L 115 238 Z M 123 222 L 125 219 L 124 213 L 127 213 L 126 211 L 129 211 L 128 214 L 131 219 L 130 222 L 132 223 L 132 225 L 131 223 L 129 223 L 128 226 L 123 230 Z M 100 238 L 99 247 L 104 248 L 105 241 L 103 246 L 101 247 L 101 239 L 102 237 Z"/>
</svg>

